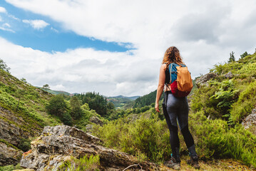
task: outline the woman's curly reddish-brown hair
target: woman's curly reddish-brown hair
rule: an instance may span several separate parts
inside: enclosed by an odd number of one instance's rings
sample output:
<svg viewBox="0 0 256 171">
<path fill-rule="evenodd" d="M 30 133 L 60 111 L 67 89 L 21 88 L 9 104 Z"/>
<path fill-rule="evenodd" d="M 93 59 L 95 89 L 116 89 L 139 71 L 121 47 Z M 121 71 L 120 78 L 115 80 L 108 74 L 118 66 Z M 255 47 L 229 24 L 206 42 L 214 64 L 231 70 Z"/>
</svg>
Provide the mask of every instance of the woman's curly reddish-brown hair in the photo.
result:
<svg viewBox="0 0 256 171">
<path fill-rule="evenodd" d="M 180 56 L 180 51 L 175 46 L 170 46 L 170 48 L 168 48 L 165 51 L 165 56 L 163 56 L 163 62 L 162 63 L 167 63 L 167 66 L 170 63 L 177 63 L 179 65 L 184 64 L 183 60 Z"/>
</svg>

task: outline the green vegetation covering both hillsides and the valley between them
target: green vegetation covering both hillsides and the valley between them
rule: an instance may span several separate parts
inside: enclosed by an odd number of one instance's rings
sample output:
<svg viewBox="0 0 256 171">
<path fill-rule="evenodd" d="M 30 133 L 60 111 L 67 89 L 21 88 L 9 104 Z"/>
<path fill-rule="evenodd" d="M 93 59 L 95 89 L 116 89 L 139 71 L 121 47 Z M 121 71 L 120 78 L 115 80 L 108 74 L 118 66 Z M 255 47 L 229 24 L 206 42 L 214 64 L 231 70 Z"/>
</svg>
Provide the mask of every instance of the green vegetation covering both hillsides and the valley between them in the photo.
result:
<svg viewBox="0 0 256 171">
<path fill-rule="evenodd" d="M 241 125 L 256 107 L 256 53 L 244 53 L 237 61 L 231 57 L 230 54 L 227 63 L 215 64 L 210 69 L 210 73 L 216 74 L 215 78 L 204 85 L 194 85 L 188 96 L 189 127 L 200 160 L 232 158 L 256 168 L 255 127 L 245 129 Z M 39 136 L 46 125 L 71 125 L 87 131 L 86 125 L 90 124 L 92 134 L 101 138 L 106 147 L 159 165 L 170 157 L 169 131 L 163 110 L 161 113 L 154 110 L 156 90 L 135 100 L 119 99 L 122 105 L 115 106 L 96 92 L 53 95 L 11 76 L 10 68 L 4 61 L 1 63 L 0 106 L 24 122 L 18 124 L 1 115 L 0 120 L 29 133 L 29 140 L 14 145 L 20 150 L 29 150 L 31 140 Z M 103 124 L 92 123 L 92 116 Z M 180 153 L 188 155 L 181 133 L 179 135 Z"/>
</svg>

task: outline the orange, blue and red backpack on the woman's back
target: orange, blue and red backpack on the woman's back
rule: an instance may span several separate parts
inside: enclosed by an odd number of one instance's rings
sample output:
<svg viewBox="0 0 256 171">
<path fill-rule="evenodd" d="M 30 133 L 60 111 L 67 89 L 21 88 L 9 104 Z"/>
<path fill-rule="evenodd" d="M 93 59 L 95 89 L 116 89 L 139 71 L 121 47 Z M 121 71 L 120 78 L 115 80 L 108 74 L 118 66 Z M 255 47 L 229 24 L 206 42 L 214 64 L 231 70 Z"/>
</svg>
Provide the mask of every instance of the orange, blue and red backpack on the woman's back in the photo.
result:
<svg viewBox="0 0 256 171">
<path fill-rule="evenodd" d="M 175 97 L 187 96 L 193 88 L 192 79 L 188 67 L 171 63 L 170 71 L 170 90 Z"/>
</svg>

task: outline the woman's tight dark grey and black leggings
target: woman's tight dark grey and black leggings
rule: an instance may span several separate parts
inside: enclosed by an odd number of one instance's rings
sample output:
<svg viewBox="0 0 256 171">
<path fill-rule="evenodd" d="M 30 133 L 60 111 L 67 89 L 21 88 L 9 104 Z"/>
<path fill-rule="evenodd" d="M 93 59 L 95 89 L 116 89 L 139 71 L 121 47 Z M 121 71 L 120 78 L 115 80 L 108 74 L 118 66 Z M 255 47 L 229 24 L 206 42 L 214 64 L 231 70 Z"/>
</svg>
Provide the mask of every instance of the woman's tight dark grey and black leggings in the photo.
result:
<svg viewBox="0 0 256 171">
<path fill-rule="evenodd" d="M 163 114 L 165 115 L 165 120 L 170 130 L 170 146 L 172 151 L 174 152 L 175 149 L 180 147 L 178 125 L 187 147 L 189 148 L 194 145 L 194 139 L 188 130 L 188 99 L 186 97 L 176 98 L 172 93 L 165 92 Z"/>
</svg>

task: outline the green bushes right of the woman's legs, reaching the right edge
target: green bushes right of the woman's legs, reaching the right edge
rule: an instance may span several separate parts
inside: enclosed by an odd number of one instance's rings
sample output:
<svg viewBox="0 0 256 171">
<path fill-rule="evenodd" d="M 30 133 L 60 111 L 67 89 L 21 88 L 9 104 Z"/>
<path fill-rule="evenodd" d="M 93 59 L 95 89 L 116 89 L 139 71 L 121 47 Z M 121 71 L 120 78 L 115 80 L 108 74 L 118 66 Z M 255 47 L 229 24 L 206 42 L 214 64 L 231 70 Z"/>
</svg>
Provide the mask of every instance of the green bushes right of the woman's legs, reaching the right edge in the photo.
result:
<svg viewBox="0 0 256 171">
<path fill-rule="evenodd" d="M 235 158 L 256 166 L 256 137 L 241 125 L 229 128 L 225 120 L 209 120 L 201 111 L 190 115 L 190 130 L 200 157 Z"/>
</svg>

